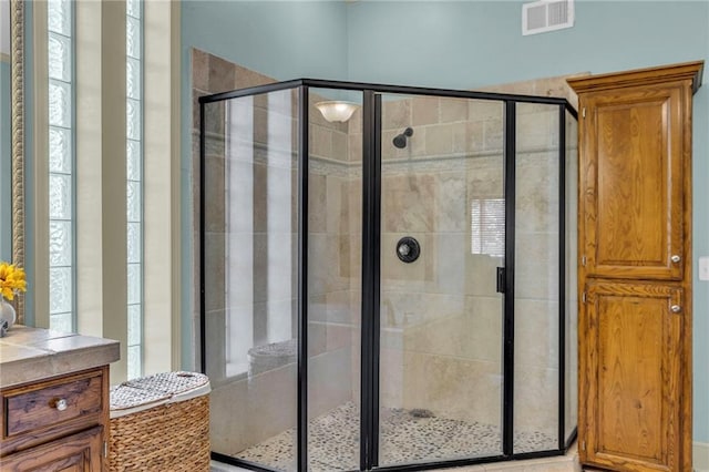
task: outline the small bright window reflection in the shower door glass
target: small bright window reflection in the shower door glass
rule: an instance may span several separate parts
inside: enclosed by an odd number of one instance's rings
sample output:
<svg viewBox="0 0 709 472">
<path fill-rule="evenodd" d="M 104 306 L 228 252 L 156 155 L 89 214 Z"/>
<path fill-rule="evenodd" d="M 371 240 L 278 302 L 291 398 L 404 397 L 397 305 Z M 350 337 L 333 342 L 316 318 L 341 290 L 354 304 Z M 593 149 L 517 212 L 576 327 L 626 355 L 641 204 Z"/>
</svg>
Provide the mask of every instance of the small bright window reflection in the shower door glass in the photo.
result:
<svg viewBox="0 0 709 472">
<path fill-rule="evenodd" d="M 471 253 L 505 255 L 505 199 L 484 198 L 471 203 Z"/>
</svg>

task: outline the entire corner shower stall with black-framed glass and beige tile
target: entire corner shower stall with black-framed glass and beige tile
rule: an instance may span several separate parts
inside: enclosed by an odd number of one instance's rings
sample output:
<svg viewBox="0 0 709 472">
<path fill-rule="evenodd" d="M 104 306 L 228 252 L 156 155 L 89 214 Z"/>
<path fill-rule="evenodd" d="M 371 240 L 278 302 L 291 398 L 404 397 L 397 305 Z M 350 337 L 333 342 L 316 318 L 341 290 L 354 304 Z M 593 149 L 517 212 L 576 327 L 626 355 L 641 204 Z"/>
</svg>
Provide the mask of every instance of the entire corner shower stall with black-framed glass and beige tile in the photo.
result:
<svg viewBox="0 0 709 472">
<path fill-rule="evenodd" d="M 213 458 L 403 471 L 566 451 L 566 100 L 304 79 L 199 114 Z"/>
</svg>

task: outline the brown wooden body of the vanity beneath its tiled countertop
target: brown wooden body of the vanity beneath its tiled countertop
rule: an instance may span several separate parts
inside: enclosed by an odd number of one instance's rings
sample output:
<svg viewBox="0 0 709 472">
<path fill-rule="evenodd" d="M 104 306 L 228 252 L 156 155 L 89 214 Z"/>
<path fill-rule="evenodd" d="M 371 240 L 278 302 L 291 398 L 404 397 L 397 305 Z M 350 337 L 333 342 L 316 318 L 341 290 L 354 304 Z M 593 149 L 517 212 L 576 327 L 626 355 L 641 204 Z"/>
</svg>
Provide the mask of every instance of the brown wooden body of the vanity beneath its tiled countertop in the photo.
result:
<svg viewBox="0 0 709 472">
<path fill-rule="evenodd" d="M 2 471 L 105 470 L 109 368 L 0 391 Z"/>
</svg>

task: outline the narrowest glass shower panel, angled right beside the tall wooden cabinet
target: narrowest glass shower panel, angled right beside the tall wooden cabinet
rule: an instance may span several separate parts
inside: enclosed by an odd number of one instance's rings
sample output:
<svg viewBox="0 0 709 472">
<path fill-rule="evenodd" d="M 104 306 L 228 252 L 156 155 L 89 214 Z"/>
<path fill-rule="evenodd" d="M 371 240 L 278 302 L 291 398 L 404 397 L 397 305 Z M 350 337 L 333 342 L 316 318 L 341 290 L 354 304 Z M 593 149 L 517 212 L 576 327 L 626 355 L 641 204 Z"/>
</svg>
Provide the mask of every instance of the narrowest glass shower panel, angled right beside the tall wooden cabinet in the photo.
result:
<svg viewBox="0 0 709 472">
<path fill-rule="evenodd" d="M 566 112 L 566 404 L 564 439 L 568 441 L 578 423 L 578 122 Z"/>
</svg>

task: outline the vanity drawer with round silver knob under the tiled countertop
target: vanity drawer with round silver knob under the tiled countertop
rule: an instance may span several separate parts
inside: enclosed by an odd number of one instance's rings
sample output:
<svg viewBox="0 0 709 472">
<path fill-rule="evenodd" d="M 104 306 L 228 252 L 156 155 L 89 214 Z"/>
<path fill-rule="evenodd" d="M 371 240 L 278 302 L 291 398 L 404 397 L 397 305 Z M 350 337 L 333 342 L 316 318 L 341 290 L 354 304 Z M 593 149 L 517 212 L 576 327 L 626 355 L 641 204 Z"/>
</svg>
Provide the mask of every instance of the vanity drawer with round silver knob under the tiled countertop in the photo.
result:
<svg viewBox="0 0 709 472">
<path fill-rule="evenodd" d="M 104 410 L 103 372 L 94 370 L 6 391 L 3 400 L 4 438 L 81 421 L 80 417 Z"/>
</svg>

